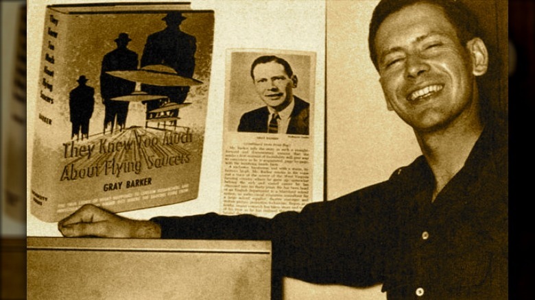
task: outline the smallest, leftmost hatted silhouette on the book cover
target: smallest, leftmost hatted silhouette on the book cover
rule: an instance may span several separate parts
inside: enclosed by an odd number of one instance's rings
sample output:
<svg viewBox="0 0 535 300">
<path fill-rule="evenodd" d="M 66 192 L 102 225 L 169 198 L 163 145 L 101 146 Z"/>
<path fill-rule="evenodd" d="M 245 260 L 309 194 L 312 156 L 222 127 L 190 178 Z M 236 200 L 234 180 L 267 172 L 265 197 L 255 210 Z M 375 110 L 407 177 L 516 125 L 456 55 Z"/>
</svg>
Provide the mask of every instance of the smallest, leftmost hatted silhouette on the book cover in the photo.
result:
<svg viewBox="0 0 535 300">
<path fill-rule="evenodd" d="M 78 86 L 69 93 L 69 110 L 71 123 L 73 123 L 71 138 L 76 135 L 76 140 L 78 140 L 81 131 L 82 140 L 84 140 L 84 137 L 89 138 L 89 119 L 95 107 L 95 89 L 86 85 L 88 79 L 85 75 L 81 75 L 77 82 Z"/>
</svg>

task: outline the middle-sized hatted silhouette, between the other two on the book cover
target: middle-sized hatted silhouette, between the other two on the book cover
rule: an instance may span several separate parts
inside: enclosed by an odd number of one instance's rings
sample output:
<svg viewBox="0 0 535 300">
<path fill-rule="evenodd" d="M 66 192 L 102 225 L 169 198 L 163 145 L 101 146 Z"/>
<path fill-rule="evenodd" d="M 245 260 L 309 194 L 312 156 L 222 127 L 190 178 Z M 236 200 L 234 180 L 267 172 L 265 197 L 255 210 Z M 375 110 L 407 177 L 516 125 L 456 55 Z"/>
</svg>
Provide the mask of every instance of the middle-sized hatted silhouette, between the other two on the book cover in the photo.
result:
<svg viewBox="0 0 535 300">
<path fill-rule="evenodd" d="M 128 34 L 119 34 L 115 39 L 117 48 L 106 53 L 102 59 L 102 68 L 100 70 L 100 95 L 102 95 L 102 103 L 105 107 L 103 134 L 106 133 L 108 125 L 111 125 L 111 132 L 113 133 L 115 122 L 117 122 L 117 126 L 121 131 L 126 125 L 128 101 L 114 101 L 111 99 L 131 94 L 136 88 L 136 83 L 108 75 L 106 72 L 135 70 L 137 68 L 138 55 L 127 48 L 130 40 Z"/>
</svg>

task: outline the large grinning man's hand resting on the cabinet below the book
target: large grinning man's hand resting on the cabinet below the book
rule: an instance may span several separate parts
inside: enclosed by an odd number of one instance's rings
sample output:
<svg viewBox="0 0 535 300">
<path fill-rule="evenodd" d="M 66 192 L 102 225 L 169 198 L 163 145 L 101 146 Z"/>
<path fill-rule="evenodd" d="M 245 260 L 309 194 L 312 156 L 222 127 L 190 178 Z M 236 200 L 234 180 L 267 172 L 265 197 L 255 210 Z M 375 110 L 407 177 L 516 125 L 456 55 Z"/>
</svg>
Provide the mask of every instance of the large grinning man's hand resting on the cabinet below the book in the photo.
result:
<svg viewBox="0 0 535 300">
<path fill-rule="evenodd" d="M 160 238 L 160 226 L 118 216 L 92 204 L 86 204 L 58 223 L 63 236 L 98 236 L 101 238 Z"/>
</svg>

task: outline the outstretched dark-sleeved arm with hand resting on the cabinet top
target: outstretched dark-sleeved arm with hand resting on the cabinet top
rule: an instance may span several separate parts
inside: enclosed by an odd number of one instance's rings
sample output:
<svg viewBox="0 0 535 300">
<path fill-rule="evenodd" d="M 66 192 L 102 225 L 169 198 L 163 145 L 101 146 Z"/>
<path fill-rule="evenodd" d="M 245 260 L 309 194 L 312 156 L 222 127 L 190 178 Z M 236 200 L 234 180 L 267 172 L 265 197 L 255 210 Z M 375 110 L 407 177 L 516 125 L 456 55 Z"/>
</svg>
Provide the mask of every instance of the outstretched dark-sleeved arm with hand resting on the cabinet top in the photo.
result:
<svg viewBox="0 0 535 300">
<path fill-rule="evenodd" d="M 86 205 L 59 224 L 64 236 L 271 240 L 273 272 L 321 284 L 370 286 L 382 279 L 388 188 L 378 184 L 274 218 L 252 215 L 158 216 L 134 221 Z"/>
</svg>

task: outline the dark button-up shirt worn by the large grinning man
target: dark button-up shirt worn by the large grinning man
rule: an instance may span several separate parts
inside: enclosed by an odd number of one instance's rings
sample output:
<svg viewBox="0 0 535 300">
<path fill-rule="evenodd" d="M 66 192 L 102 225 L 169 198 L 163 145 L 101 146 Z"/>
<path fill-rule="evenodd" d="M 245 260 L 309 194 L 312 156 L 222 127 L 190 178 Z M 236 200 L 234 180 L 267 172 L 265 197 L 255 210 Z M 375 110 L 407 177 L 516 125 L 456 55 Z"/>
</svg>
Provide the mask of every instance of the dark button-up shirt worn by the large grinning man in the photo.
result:
<svg viewBox="0 0 535 300">
<path fill-rule="evenodd" d="M 487 126 L 431 202 L 423 157 L 390 179 L 274 218 L 156 217 L 163 238 L 272 240 L 273 273 L 388 299 L 508 298 L 508 141 Z"/>
</svg>

